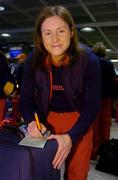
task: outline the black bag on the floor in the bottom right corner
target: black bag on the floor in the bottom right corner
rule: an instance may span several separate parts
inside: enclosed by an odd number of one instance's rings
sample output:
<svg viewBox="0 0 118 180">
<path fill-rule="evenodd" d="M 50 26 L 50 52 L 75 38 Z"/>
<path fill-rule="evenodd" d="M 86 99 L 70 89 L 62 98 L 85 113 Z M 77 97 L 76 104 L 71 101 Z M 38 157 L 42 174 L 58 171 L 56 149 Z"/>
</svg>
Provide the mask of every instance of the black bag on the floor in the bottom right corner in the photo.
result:
<svg viewBox="0 0 118 180">
<path fill-rule="evenodd" d="M 118 139 L 111 139 L 102 146 L 95 169 L 118 176 Z"/>
</svg>

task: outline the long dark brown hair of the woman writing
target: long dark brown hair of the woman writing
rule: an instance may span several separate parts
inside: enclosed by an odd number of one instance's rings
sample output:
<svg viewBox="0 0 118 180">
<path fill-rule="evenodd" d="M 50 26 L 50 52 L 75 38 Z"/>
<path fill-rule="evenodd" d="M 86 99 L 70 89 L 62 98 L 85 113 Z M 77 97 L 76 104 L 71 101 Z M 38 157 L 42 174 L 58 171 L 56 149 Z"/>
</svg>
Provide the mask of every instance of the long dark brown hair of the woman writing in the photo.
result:
<svg viewBox="0 0 118 180">
<path fill-rule="evenodd" d="M 62 7 L 62 6 L 51 6 L 51 7 L 43 7 L 36 20 L 35 31 L 34 31 L 34 67 L 43 67 L 44 59 L 47 56 L 48 52 L 43 46 L 42 37 L 41 37 L 41 25 L 43 21 L 51 16 L 59 16 L 61 17 L 69 26 L 70 30 L 73 31 L 73 37 L 71 38 L 70 46 L 67 50 L 69 55 L 69 64 L 78 59 L 81 49 L 79 48 L 78 34 L 73 21 L 73 18 L 70 12 Z"/>
</svg>

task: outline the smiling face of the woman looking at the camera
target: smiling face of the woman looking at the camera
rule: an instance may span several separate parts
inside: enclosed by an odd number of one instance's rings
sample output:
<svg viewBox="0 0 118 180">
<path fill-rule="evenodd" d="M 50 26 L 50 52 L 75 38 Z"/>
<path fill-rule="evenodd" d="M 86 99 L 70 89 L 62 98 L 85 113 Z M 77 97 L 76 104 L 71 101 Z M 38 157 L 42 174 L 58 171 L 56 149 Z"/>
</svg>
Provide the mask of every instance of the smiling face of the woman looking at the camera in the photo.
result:
<svg viewBox="0 0 118 180">
<path fill-rule="evenodd" d="M 72 31 L 62 18 L 52 16 L 42 23 L 41 35 L 45 49 L 55 59 L 65 54 L 70 45 Z"/>
</svg>

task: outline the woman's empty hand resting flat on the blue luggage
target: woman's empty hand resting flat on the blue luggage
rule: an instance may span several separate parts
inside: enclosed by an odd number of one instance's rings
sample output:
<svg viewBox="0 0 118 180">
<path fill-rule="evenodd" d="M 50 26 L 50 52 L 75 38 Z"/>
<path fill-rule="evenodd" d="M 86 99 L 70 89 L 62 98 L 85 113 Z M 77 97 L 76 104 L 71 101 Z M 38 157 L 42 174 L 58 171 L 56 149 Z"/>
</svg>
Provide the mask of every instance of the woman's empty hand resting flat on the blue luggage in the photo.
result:
<svg viewBox="0 0 118 180">
<path fill-rule="evenodd" d="M 60 169 L 62 163 L 65 161 L 68 154 L 70 153 L 72 147 L 71 138 L 68 134 L 62 134 L 62 135 L 50 135 L 47 139 L 48 140 L 56 139 L 58 142 L 58 149 L 52 164 L 55 169 L 56 168 Z"/>
</svg>

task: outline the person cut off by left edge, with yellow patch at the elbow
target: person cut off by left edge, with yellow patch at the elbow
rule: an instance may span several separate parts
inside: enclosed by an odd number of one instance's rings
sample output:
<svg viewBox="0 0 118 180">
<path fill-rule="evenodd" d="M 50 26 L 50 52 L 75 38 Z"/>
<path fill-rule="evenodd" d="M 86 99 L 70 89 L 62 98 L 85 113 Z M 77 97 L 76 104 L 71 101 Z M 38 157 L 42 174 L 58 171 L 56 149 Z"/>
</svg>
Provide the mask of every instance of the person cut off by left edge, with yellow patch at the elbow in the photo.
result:
<svg viewBox="0 0 118 180">
<path fill-rule="evenodd" d="M 6 97 L 14 90 L 14 78 L 10 74 L 7 58 L 0 51 L 0 121 L 4 119 Z"/>
</svg>

